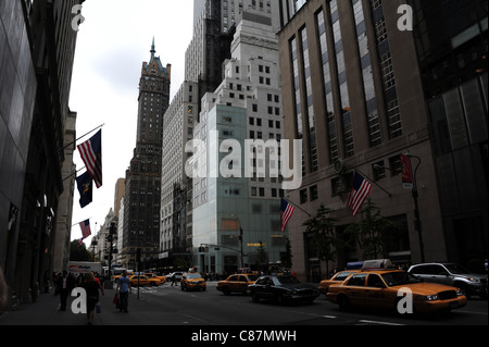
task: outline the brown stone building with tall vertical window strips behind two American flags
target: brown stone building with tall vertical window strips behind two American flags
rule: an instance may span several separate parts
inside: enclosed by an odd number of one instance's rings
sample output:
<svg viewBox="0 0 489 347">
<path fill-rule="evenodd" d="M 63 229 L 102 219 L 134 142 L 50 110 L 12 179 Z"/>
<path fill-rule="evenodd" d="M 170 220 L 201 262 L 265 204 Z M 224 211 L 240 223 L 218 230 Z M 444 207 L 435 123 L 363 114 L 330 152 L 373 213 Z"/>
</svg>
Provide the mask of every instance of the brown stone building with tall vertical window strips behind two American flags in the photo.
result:
<svg viewBox="0 0 489 347">
<path fill-rule="evenodd" d="M 297 1 L 283 13 L 279 33 L 285 137 L 303 140 L 303 185 L 287 191 L 292 203 L 315 215 L 333 210 L 337 235 L 354 218 L 347 202 L 355 171 L 374 187 L 372 201 L 398 222 L 384 256 L 413 262 L 426 255 L 443 259 L 446 247 L 424 107 L 416 47 L 400 28 L 399 3 L 380 0 Z M 292 9 L 283 5 L 283 11 Z M 286 21 L 288 18 L 288 22 Z M 401 154 L 422 158 L 417 173 L 422 231 L 415 226 L 411 189 L 402 187 Z M 413 166 L 418 162 L 413 159 Z M 415 168 L 414 168 L 415 169 Z M 414 170 L 413 169 L 413 170 Z M 296 210 L 289 221 L 298 275 L 312 280 L 325 269 L 309 218 Z M 416 224 L 417 225 L 417 224 Z M 424 246 L 424 249 L 423 249 Z M 363 259 L 355 244 L 338 249 L 338 267 Z M 327 274 L 326 274 L 327 275 Z"/>
</svg>

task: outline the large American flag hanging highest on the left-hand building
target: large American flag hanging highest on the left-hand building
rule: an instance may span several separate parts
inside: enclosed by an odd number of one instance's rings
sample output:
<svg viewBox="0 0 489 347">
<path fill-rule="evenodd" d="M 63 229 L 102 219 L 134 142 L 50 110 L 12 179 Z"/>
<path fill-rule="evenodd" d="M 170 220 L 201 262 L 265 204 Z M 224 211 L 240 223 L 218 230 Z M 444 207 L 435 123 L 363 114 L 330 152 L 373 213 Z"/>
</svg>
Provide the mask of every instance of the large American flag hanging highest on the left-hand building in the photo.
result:
<svg viewBox="0 0 489 347">
<path fill-rule="evenodd" d="M 97 188 L 100 188 L 102 186 L 102 131 L 100 129 L 77 148 L 88 173 L 93 178 Z"/>
</svg>

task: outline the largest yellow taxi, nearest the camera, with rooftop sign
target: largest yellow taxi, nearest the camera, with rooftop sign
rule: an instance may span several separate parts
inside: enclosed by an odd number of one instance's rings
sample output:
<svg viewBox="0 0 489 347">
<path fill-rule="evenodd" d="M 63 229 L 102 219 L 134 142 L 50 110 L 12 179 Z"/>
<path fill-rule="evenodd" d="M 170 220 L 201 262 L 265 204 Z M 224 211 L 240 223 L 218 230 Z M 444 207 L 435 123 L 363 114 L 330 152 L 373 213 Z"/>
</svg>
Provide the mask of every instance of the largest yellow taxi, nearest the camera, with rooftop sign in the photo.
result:
<svg viewBox="0 0 489 347">
<path fill-rule="evenodd" d="M 340 309 L 350 306 L 386 308 L 399 313 L 430 313 L 464 307 L 459 288 L 424 283 L 403 270 L 389 270 L 390 261 L 365 261 L 364 268 L 341 284 L 329 286 L 327 299 Z"/>
</svg>

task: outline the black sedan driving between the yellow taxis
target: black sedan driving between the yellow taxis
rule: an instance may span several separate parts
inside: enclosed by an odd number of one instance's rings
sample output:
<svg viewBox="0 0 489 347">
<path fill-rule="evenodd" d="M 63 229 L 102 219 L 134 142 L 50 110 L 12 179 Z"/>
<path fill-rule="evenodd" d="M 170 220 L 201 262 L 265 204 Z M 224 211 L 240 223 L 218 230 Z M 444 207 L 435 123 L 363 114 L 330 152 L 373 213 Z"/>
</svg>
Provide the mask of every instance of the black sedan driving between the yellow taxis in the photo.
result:
<svg viewBox="0 0 489 347">
<path fill-rule="evenodd" d="M 254 302 L 260 299 L 276 300 L 278 303 L 286 302 L 312 302 L 319 292 L 315 286 L 303 284 L 293 276 L 262 276 L 255 283 L 248 286 Z"/>
</svg>

